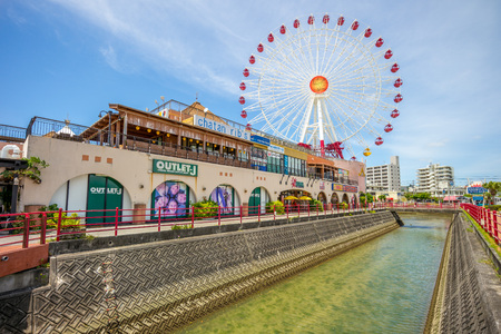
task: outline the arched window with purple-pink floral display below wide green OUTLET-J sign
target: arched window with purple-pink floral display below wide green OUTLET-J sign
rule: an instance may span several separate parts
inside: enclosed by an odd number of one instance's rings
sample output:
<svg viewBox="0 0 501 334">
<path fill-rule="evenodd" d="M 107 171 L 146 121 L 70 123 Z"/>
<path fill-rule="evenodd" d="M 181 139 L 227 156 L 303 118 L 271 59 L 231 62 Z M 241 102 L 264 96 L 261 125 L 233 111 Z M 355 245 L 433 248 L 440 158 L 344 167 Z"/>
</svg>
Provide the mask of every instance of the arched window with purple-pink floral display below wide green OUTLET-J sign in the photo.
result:
<svg viewBox="0 0 501 334">
<path fill-rule="evenodd" d="M 151 193 L 151 208 L 155 208 L 151 218 L 186 217 L 190 200 L 195 200 L 195 194 L 185 183 L 161 183 Z"/>
</svg>

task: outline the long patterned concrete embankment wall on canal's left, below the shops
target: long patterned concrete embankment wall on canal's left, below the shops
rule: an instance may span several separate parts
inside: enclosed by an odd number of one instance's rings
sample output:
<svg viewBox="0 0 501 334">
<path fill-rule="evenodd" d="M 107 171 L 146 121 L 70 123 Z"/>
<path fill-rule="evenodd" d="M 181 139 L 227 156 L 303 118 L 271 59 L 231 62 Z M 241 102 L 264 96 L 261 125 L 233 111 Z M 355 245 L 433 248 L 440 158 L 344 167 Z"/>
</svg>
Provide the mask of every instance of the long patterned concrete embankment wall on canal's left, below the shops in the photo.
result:
<svg viewBox="0 0 501 334">
<path fill-rule="evenodd" d="M 381 212 L 53 256 L 48 286 L 0 296 L 0 332 L 165 333 L 397 227 Z"/>
</svg>

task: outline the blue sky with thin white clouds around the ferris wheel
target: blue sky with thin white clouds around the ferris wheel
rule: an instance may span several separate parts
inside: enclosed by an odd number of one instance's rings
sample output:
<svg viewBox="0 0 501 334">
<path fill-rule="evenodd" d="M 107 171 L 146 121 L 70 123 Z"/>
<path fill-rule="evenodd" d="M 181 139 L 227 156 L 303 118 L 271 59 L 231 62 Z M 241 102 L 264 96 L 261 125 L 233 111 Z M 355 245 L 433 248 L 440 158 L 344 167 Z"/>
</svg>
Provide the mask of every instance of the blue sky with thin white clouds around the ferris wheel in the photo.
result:
<svg viewBox="0 0 501 334">
<path fill-rule="evenodd" d="M 238 84 L 255 47 L 295 18 L 371 26 L 404 80 L 401 116 L 367 165 L 400 156 L 402 184 L 429 163 L 456 184 L 501 180 L 501 1 L 0 1 L 0 124 L 91 125 L 108 104 L 198 100 L 242 121 Z"/>
</svg>

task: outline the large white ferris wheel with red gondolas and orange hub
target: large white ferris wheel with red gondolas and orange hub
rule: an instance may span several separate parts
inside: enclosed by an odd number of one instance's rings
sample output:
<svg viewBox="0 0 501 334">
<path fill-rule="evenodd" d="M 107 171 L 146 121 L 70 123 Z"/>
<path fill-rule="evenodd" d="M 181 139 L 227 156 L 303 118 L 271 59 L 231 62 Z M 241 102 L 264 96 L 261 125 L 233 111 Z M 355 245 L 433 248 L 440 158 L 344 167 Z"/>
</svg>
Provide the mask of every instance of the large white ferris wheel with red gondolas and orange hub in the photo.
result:
<svg viewBox="0 0 501 334">
<path fill-rule="evenodd" d="M 371 155 L 400 115 L 400 67 L 383 38 L 357 20 L 312 14 L 282 24 L 248 62 L 238 99 L 247 129 L 322 156 Z"/>
</svg>

